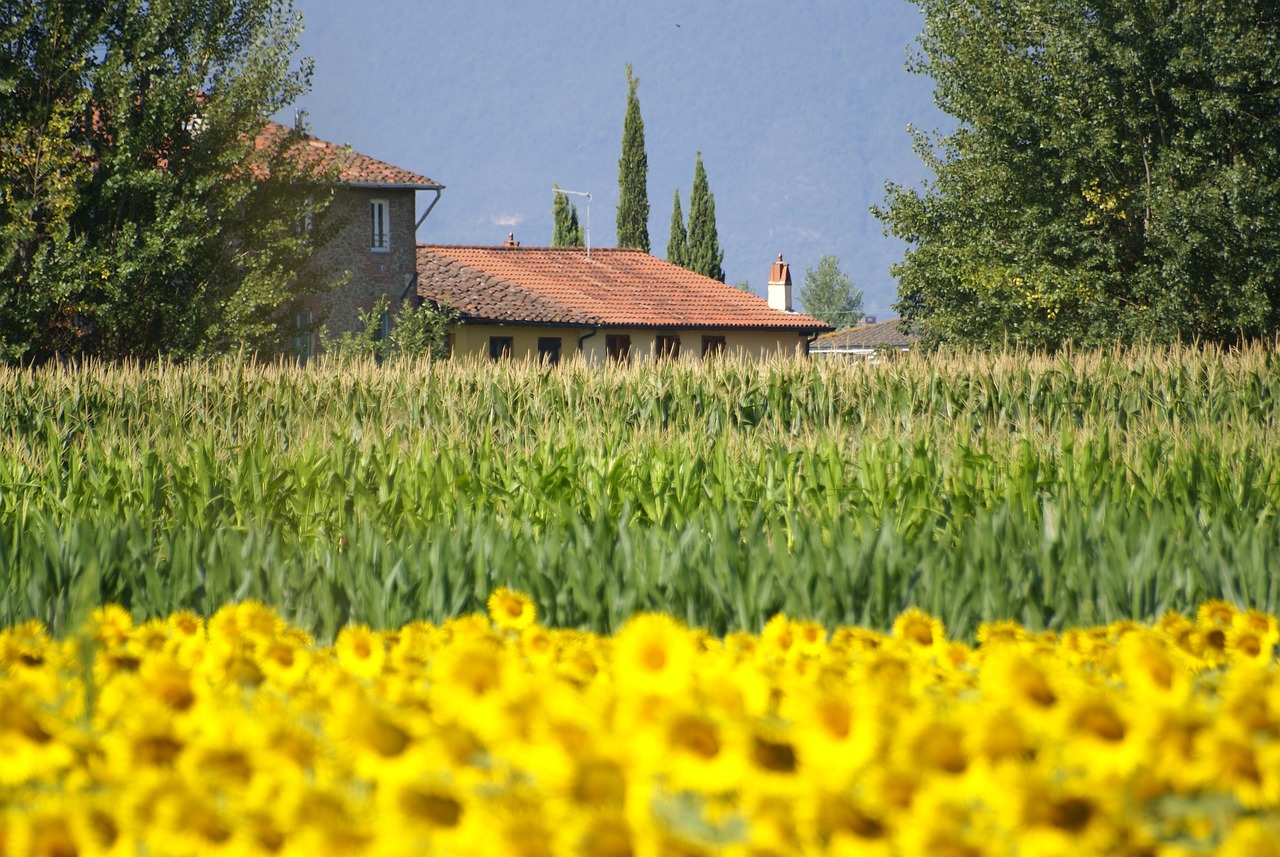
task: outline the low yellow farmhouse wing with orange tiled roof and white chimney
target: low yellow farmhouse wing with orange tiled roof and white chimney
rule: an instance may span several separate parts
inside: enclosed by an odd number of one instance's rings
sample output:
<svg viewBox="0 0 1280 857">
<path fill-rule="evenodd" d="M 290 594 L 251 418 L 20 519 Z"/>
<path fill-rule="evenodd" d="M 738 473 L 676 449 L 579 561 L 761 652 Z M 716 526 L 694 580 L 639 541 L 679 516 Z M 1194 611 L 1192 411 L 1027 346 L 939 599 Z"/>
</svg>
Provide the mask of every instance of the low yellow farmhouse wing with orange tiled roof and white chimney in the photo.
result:
<svg viewBox="0 0 1280 857">
<path fill-rule="evenodd" d="M 831 330 L 790 306 L 778 257 L 764 301 L 640 249 L 420 246 L 417 293 L 460 316 L 454 354 L 558 362 L 804 354 Z"/>
</svg>

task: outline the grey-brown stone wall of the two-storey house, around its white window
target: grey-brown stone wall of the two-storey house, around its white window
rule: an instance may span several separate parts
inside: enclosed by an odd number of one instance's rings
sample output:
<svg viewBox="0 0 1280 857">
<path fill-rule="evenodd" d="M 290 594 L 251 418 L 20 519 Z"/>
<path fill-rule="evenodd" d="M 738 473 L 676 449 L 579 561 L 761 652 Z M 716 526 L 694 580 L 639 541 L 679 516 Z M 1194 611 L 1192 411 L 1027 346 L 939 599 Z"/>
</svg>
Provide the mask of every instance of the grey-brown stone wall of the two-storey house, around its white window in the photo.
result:
<svg viewBox="0 0 1280 857">
<path fill-rule="evenodd" d="M 389 212 L 389 248 L 372 249 L 370 203 L 385 200 Z M 308 265 L 305 276 L 315 278 L 317 287 L 338 280 L 306 301 L 316 322 L 323 322 L 330 335 L 355 330 L 357 310 L 369 310 L 385 294 L 390 312 L 399 308 L 406 289 L 417 267 L 413 225 L 417 207 L 412 189 L 342 188 L 325 212 L 321 229 L 332 230 L 326 243 Z M 319 342 L 315 343 L 319 350 Z"/>
</svg>

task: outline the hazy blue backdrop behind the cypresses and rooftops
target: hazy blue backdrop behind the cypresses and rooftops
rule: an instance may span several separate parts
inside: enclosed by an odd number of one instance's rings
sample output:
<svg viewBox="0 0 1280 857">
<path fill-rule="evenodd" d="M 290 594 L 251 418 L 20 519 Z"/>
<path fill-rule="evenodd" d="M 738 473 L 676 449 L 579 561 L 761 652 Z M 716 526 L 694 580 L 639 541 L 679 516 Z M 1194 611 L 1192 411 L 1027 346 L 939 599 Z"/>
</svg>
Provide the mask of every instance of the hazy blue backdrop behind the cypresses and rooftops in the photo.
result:
<svg viewBox="0 0 1280 857">
<path fill-rule="evenodd" d="M 701 152 L 728 283 L 764 294 L 778 253 L 799 292 L 822 256 L 893 317 L 905 246 L 869 207 L 928 178 L 908 125 L 951 127 L 905 69 L 923 18 L 906 0 L 294 0 L 294 106 L 311 133 L 445 185 L 420 242 L 552 237 L 552 188 L 591 194 L 590 240 L 614 244 L 626 65 L 640 79 L 649 237 L 666 256 Z M 292 120 L 282 116 L 282 120 Z M 419 211 L 431 194 L 419 194 Z M 581 220 L 584 198 L 573 197 Z"/>
</svg>

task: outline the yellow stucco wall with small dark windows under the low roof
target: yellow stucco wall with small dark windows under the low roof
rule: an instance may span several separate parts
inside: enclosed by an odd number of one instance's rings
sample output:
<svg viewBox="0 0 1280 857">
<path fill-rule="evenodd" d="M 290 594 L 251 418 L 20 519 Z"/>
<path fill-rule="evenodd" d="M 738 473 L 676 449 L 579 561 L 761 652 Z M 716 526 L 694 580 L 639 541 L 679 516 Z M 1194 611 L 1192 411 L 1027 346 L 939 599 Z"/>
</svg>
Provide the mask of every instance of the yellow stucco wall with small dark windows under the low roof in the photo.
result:
<svg viewBox="0 0 1280 857">
<path fill-rule="evenodd" d="M 511 338 L 511 356 L 516 359 L 538 357 L 540 338 L 561 340 L 561 359 L 568 359 L 577 353 L 579 340 L 590 329 L 582 327 L 525 327 L 516 325 L 458 325 L 453 331 L 453 353 L 458 357 L 489 357 L 489 340 L 493 336 Z M 607 356 L 607 336 L 626 335 L 631 338 L 631 362 L 654 358 L 655 342 L 659 335 L 680 339 L 680 359 L 701 359 L 703 336 L 723 336 L 724 353 L 741 359 L 763 359 L 774 354 L 794 356 L 806 353 L 806 338 L 794 331 L 772 330 L 653 330 L 653 329 L 602 329 L 582 339 L 582 354 L 588 361 L 603 361 Z"/>
</svg>

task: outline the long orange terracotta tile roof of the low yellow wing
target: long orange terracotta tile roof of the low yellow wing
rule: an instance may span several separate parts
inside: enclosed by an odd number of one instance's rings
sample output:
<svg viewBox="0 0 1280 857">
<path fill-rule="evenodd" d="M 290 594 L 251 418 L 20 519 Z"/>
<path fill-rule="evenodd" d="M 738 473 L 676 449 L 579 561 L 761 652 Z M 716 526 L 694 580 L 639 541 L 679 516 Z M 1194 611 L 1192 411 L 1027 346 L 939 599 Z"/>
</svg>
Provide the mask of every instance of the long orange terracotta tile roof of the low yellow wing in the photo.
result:
<svg viewBox="0 0 1280 857">
<path fill-rule="evenodd" d="M 420 246 L 417 274 L 419 294 L 471 321 L 831 330 L 639 249 Z"/>
</svg>

